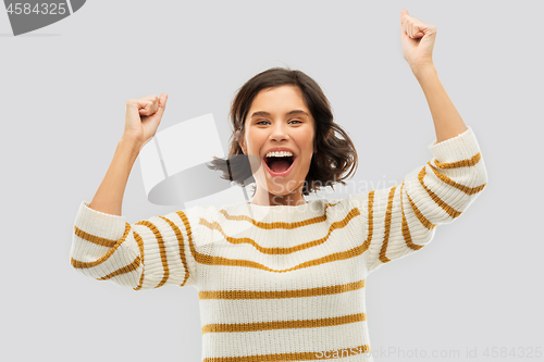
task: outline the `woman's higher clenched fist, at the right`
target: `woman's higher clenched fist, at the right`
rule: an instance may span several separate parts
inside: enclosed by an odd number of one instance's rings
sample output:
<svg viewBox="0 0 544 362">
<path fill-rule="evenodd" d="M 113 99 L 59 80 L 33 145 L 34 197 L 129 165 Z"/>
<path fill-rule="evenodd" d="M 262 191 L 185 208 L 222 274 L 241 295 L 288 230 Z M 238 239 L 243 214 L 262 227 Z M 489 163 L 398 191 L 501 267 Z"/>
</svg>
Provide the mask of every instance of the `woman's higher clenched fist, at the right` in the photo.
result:
<svg viewBox="0 0 544 362">
<path fill-rule="evenodd" d="M 436 26 L 411 17 L 407 10 L 400 11 L 400 45 L 403 57 L 413 70 L 433 64 L 433 47 Z"/>
</svg>

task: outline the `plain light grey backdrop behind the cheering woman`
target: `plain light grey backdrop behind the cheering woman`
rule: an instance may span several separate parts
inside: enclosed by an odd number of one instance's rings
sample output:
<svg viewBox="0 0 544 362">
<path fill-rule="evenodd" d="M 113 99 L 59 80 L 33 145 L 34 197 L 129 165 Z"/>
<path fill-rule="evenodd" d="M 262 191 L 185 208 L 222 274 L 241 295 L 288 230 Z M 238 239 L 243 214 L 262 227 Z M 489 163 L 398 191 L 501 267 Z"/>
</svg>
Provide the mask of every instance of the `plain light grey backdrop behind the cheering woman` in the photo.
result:
<svg viewBox="0 0 544 362">
<path fill-rule="evenodd" d="M 125 101 L 168 92 L 159 130 L 211 112 L 226 150 L 236 89 L 271 66 L 300 68 L 355 139 L 354 182 L 391 187 L 430 160 L 435 140 L 401 55 L 401 9 L 437 26 L 438 76 L 479 139 L 490 183 L 430 246 L 369 277 L 372 348 L 460 353 L 441 361 L 544 349 L 542 2 L 95 0 L 20 37 L 0 11 L 0 359 L 199 361 L 195 288 L 134 291 L 70 265 L 77 208 L 111 162 Z M 146 200 L 136 162 L 127 221 L 171 211 Z M 479 358 L 465 358 L 474 348 Z M 419 359 L 376 354 L 400 360 Z"/>
</svg>

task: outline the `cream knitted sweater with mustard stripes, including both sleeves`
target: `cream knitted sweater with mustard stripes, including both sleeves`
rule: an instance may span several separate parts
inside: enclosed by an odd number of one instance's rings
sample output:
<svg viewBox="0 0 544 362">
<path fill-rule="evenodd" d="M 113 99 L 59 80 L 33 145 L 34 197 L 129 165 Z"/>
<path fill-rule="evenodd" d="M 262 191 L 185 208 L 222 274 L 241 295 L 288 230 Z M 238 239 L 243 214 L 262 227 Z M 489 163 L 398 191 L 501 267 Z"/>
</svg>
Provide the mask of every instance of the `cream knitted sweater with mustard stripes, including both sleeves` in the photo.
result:
<svg viewBox="0 0 544 362">
<path fill-rule="evenodd" d="M 82 201 L 71 264 L 134 290 L 197 288 L 203 362 L 373 361 L 367 276 L 428 245 L 487 182 L 472 128 L 429 149 L 400 185 L 342 200 L 194 207 L 135 224 Z"/>
</svg>

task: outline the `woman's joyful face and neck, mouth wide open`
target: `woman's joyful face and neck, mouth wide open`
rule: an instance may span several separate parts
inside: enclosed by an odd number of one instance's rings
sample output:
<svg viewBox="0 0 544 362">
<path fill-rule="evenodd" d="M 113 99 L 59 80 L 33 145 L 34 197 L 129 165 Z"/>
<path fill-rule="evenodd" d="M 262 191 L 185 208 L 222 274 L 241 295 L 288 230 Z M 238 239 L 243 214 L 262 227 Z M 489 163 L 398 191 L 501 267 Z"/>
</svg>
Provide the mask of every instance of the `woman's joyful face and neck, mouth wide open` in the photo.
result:
<svg viewBox="0 0 544 362">
<path fill-rule="evenodd" d="M 302 186 L 316 151 L 314 120 L 300 89 L 280 86 L 261 90 L 251 103 L 245 128 L 240 147 L 245 154 L 256 157 L 250 158 L 257 183 L 252 203 L 305 202 Z M 274 150 L 290 153 L 270 153 Z"/>
</svg>

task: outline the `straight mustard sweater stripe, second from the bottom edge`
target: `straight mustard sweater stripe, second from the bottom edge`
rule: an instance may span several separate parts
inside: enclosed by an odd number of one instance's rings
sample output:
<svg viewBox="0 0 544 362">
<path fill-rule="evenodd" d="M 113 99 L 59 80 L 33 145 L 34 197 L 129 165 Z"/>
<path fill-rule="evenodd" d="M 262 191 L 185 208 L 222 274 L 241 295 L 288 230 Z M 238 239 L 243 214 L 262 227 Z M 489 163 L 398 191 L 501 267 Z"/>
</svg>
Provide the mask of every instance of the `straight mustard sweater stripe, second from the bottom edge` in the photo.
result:
<svg viewBox="0 0 544 362">
<path fill-rule="evenodd" d="M 206 324 L 205 326 L 202 326 L 202 335 L 207 333 L 236 333 L 236 332 L 260 332 L 260 330 L 290 329 L 290 328 L 330 327 L 348 323 L 363 322 L 366 320 L 367 316 L 364 313 L 357 313 L 357 314 L 334 316 L 329 319 L 317 319 L 317 320 Z"/>
</svg>

